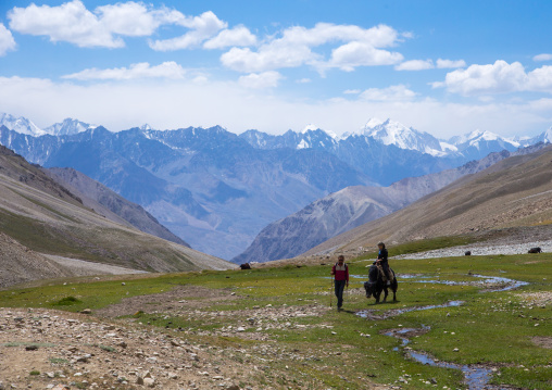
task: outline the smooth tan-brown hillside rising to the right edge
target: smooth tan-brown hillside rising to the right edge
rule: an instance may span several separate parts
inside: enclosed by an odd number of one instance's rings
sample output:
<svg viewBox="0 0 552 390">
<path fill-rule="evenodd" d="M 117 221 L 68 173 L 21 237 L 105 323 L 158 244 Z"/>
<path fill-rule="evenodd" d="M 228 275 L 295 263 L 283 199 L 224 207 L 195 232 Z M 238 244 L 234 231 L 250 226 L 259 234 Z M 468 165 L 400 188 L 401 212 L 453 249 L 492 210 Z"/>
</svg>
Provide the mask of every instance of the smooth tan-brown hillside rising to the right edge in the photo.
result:
<svg viewBox="0 0 552 390">
<path fill-rule="evenodd" d="M 464 176 L 391 215 L 336 236 L 304 254 L 354 251 L 379 240 L 403 242 L 501 228 L 550 226 L 551 194 L 552 147 L 548 146 Z"/>
</svg>

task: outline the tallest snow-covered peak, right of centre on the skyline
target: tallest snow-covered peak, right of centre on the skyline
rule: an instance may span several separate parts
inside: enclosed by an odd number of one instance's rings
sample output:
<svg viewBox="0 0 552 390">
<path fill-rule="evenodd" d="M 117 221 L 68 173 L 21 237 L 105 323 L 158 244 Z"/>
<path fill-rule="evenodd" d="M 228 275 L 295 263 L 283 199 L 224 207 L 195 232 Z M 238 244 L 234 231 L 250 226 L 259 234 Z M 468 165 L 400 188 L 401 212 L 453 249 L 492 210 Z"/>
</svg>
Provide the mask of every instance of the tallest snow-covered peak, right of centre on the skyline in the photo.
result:
<svg viewBox="0 0 552 390">
<path fill-rule="evenodd" d="M 428 133 L 418 131 L 403 124 L 386 119 L 371 118 L 364 127 L 356 133 L 346 133 L 342 138 L 351 136 L 371 137 L 384 144 L 394 144 L 400 149 L 417 150 L 435 156 L 443 156 L 447 152 L 441 142 Z"/>
</svg>

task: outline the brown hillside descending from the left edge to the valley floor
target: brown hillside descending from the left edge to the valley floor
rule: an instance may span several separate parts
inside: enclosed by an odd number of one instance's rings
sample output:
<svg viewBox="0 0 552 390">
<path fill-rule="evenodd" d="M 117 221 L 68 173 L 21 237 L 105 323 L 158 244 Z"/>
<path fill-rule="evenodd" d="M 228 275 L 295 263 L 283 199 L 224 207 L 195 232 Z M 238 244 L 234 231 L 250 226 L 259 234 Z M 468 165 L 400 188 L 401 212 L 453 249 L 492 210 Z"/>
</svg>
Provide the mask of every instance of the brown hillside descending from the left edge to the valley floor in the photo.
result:
<svg viewBox="0 0 552 390">
<path fill-rule="evenodd" d="M 39 166 L 0 147 L 0 234 L 2 287 L 36 278 L 75 275 L 51 255 L 149 272 L 233 265 L 95 212 L 86 201 L 51 179 Z M 49 255 L 47 257 L 46 255 Z"/>
</svg>

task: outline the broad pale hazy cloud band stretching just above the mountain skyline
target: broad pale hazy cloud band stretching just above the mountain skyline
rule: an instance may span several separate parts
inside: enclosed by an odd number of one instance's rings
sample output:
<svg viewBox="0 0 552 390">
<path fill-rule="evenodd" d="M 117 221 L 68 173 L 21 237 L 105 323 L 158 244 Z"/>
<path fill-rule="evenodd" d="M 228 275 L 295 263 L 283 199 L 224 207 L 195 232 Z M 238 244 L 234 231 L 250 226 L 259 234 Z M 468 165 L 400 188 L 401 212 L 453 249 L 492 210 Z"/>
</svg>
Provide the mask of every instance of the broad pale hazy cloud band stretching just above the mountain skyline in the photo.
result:
<svg viewBox="0 0 552 390">
<path fill-rule="evenodd" d="M 428 99 L 305 101 L 247 89 L 238 83 L 196 84 L 188 78 L 81 85 L 71 80 L 0 77 L 0 106 L 42 127 L 63 117 L 77 117 L 111 130 L 149 123 L 161 129 L 222 125 L 237 134 L 250 128 L 283 134 L 316 122 L 321 128 L 343 133 L 376 115 L 449 138 L 475 128 L 500 129 L 504 136 L 536 135 L 552 123 L 552 99 L 473 104 Z M 217 109 L 213 110 L 214 106 Z"/>
</svg>

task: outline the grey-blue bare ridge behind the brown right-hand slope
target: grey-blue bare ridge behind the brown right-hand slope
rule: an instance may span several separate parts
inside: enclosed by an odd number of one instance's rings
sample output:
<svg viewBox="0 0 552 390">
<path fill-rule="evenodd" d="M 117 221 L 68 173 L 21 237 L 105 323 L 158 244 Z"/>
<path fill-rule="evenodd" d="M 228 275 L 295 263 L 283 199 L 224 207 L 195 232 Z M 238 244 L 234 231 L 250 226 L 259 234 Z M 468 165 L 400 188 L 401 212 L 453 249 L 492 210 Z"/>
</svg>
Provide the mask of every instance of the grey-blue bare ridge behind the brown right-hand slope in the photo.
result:
<svg viewBox="0 0 552 390">
<path fill-rule="evenodd" d="M 492 153 L 477 162 L 436 174 L 405 178 L 388 187 L 348 187 L 266 226 L 251 246 L 233 261 L 266 262 L 294 257 L 356 226 L 380 218 L 510 156 Z"/>
</svg>

